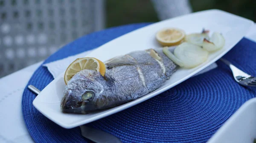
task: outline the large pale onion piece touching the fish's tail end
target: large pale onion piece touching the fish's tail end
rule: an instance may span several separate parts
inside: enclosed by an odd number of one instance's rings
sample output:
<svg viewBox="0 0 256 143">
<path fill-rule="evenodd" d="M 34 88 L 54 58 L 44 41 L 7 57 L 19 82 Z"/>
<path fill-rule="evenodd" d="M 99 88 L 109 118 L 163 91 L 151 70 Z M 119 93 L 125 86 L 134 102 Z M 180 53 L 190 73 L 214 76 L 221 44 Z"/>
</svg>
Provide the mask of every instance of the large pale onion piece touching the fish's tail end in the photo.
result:
<svg viewBox="0 0 256 143">
<path fill-rule="evenodd" d="M 166 54 L 173 62 L 180 67 L 193 68 L 205 62 L 208 58 L 208 51 L 188 42 L 184 42 L 177 46 L 172 54 L 168 48 L 163 48 Z"/>
</svg>

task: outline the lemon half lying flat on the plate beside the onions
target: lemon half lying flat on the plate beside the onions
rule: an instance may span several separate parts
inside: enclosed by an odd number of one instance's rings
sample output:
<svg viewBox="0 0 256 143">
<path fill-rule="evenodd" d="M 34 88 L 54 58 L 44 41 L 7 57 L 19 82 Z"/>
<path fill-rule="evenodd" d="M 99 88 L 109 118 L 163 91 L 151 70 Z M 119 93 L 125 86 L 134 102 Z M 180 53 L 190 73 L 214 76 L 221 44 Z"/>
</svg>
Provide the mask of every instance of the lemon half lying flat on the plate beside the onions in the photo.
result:
<svg viewBox="0 0 256 143">
<path fill-rule="evenodd" d="M 180 44 L 185 37 L 185 32 L 177 28 L 167 28 L 157 32 L 157 41 L 163 46 Z"/>
</svg>

